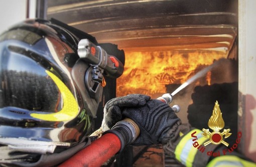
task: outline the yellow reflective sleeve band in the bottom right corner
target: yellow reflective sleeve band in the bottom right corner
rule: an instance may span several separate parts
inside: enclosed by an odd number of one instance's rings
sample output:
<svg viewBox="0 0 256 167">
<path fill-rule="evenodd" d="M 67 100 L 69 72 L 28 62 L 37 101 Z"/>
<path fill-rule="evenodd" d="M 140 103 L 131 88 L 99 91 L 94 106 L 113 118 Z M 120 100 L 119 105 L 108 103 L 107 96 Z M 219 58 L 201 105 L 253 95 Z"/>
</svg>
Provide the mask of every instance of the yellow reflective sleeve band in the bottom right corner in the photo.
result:
<svg viewBox="0 0 256 167">
<path fill-rule="evenodd" d="M 207 167 L 216 167 L 216 166 L 227 166 L 227 167 L 237 167 L 237 166 L 244 166 L 244 167 L 255 167 L 256 163 L 250 162 L 244 159 L 241 159 L 235 155 L 222 155 L 217 156 L 212 159 L 208 164 Z"/>
</svg>

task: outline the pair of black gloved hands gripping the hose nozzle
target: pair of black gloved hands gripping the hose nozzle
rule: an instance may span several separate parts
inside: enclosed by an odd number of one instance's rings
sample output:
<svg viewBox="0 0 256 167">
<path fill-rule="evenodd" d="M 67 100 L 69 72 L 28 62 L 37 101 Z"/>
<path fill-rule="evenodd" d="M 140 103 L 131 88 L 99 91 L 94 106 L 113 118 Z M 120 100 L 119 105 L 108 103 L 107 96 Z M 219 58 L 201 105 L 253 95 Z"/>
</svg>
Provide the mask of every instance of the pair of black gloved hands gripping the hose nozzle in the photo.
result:
<svg viewBox="0 0 256 167">
<path fill-rule="evenodd" d="M 141 133 L 134 141 L 135 145 L 162 143 L 166 133 L 181 124 L 168 104 L 157 99 L 150 100 L 143 94 L 129 94 L 108 101 L 102 126 L 111 128 L 125 117 L 133 119 L 140 127 Z"/>
</svg>

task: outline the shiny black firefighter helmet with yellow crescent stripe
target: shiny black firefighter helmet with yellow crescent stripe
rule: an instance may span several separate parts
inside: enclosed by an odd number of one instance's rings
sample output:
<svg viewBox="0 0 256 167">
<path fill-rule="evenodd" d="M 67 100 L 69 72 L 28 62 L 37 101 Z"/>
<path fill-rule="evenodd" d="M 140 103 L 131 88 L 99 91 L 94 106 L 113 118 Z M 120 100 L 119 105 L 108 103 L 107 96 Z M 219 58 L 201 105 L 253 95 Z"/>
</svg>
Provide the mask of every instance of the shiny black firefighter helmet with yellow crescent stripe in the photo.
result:
<svg viewBox="0 0 256 167">
<path fill-rule="evenodd" d="M 77 55 L 79 40 L 42 19 L 28 19 L 0 35 L 0 144 L 53 153 L 90 134 L 102 86 L 90 76 L 85 85 L 92 67 Z"/>
</svg>

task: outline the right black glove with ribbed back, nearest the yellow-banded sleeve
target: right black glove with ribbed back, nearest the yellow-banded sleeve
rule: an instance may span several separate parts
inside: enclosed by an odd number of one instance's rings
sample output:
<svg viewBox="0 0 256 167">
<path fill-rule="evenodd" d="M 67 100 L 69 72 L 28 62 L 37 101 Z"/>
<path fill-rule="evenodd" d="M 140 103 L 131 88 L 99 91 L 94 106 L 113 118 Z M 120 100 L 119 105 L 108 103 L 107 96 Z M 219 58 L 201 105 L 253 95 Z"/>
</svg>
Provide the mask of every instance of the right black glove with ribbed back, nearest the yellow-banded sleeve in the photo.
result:
<svg viewBox="0 0 256 167">
<path fill-rule="evenodd" d="M 126 107 L 122 113 L 140 127 L 136 145 L 162 143 L 167 131 L 180 121 L 173 109 L 158 99 L 151 99 L 142 107 Z"/>
</svg>

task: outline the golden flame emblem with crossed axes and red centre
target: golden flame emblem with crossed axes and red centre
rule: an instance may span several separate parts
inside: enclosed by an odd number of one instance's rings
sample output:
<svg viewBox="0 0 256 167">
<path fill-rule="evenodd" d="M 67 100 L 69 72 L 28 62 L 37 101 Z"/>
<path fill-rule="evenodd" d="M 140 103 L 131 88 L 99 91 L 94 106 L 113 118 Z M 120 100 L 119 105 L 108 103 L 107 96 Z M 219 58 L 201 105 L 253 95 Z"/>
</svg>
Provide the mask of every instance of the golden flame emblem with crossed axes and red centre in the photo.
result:
<svg viewBox="0 0 256 167">
<path fill-rule="evenodd" d="M 229 137 L 232 133 L 229 133 L 230 128 L 223 129 L 222 132 L 220 130 L 224 127 L 225 123 L 222 118 L 222 113 L 219 108 L 218 101 L 215 102 L 214 108 L 212 110 L 212 115 L 208 121 L 208 127 L 210 127 L 213 131 L 210 132 L 210 130 L 207 128 L 203 128 L 202 136 L 208 138 L 206 142 L 204 142 L 204 145 L 208 145 L 209 143 L 213 144 L 219 144 L 222 143 L 226 146 L 228 146 L 229 143 L 223 140 L 224 138 Z"/>
</svg>

